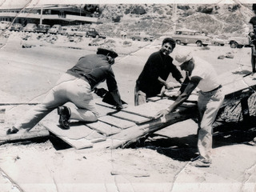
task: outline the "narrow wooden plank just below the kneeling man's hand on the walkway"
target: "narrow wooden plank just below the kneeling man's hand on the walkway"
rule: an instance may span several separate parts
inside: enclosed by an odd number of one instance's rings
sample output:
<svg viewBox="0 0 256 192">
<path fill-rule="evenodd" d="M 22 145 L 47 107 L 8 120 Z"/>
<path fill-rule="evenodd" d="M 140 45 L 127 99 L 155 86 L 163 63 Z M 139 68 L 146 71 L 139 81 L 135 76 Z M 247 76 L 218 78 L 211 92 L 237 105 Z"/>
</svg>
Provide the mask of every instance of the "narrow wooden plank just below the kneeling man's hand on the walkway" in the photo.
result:
<svg viewBox="0 0 256 192">
<path fill-rule="evenodd" d="M 130 121 L 130 122 L 135 122 L 137 124 L 141 124 L 143 122 L 149 122 L 151 118 L 145 118 L 136 114 L 130 114 L 124 111 L 117 111 L 116 113 L 110 114 L 113 117 L 116 118 L 122 118 L 124 120 Z"/>
</svg>

